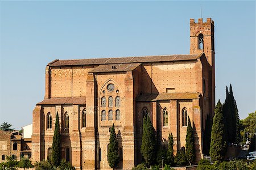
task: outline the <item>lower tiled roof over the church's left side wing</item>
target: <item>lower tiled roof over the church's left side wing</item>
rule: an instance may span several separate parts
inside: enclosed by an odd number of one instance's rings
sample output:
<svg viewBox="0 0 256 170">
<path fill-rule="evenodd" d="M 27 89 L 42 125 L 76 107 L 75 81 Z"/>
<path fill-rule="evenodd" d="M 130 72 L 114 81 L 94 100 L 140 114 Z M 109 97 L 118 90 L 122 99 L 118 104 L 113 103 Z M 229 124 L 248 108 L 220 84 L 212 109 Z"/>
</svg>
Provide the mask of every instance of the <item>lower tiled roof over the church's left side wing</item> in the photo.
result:
<svg viewBox="0 0 256 170">
<path fill-rule="evenodd" d="M 39 102 L 37 105 L 43 104 L 85 104 L 85 97 L 59 97 L 59 98 L 50 98 L 44 99 Z"/>
</svg>

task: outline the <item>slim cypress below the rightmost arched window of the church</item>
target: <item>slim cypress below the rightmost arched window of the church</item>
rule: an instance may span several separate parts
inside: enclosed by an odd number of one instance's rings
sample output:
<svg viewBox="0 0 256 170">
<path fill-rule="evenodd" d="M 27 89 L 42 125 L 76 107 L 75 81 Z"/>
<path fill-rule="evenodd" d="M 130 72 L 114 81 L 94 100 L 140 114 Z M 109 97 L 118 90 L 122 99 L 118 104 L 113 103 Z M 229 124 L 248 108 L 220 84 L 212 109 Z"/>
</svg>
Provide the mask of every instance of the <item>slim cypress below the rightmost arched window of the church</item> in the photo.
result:
<svg viewBox="0 0 256 170">
<path fill-rule="evenodd" d="M 188 127 L 187 127 L 187 135 L 186 135 L 185 154 L 187 156 L 187 160 L 188 160 L 189 164 L 192 164 L 195 160 L 196 155 L 195 155 L 193 129 L 192 129 L 189 117 L 188 117 Z"/>
</svg>

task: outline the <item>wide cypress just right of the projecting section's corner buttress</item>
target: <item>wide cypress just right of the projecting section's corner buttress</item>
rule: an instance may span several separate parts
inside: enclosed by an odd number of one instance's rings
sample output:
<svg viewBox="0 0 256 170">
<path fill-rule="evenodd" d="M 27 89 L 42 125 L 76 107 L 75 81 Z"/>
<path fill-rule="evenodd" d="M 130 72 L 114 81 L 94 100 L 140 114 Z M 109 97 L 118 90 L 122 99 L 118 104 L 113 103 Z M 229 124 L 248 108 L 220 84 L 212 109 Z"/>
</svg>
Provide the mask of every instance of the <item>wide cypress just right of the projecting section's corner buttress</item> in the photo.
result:
<svg viewBox="0 0 256 170">
<path fill-rule="evenodd" d="M 155 161 L 155 135 L 154 128 L 150 121 L 150 118 L 146 115 L 143 118 L 143 134 L 142 134 L 142 146 L 141 154 L 147 165 L 154 164 Z"/>
</svg>

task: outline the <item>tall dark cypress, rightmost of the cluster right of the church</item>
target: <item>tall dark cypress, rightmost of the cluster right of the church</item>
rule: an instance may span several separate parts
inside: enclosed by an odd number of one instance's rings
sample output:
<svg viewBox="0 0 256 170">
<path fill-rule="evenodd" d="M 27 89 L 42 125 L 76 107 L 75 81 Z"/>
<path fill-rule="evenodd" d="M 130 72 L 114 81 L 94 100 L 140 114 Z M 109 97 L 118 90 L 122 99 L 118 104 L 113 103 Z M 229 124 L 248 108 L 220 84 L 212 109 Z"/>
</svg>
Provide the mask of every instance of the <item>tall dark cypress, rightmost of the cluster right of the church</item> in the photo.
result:
<svg viewBox="0 0 256 170">
<path fill-rule="evenodd" d="M 237 103 L 236 100 L 234 99 L 233 95 L 233 90 L 232 90 L 232 85 L 230 84 L 229 86 L 229 95 L 230 95 L 230 100 L 231 100 L 231 112 L 233 115 L 233 136 L 234 140 L 233 142 L 239 144 L 242 140 L 241 133 L 240 133 L 240 117 L 238 114 L 238 109 L 237 109 Z"/>
</svg>

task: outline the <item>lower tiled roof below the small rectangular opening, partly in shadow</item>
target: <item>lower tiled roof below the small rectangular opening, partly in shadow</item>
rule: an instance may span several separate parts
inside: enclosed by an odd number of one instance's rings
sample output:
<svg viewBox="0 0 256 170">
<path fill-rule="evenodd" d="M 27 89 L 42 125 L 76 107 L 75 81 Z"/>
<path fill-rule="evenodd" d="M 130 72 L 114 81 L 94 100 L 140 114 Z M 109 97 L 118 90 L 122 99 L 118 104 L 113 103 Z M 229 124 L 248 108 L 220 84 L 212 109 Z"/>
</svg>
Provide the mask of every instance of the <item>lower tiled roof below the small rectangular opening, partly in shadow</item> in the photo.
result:
<svg viewBox="0 0 256 170">
<path fill-rule="evenodd" d="M 172 100 L 172 99 L 199 99 L 198 92 L 175 92 L 161 94 L 144 94 L 138 96 L 136 101 L 156 101 L 156 100 Z"/>
</svg>

